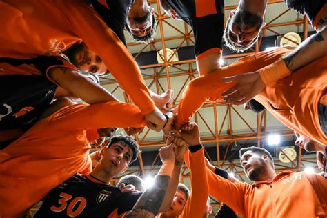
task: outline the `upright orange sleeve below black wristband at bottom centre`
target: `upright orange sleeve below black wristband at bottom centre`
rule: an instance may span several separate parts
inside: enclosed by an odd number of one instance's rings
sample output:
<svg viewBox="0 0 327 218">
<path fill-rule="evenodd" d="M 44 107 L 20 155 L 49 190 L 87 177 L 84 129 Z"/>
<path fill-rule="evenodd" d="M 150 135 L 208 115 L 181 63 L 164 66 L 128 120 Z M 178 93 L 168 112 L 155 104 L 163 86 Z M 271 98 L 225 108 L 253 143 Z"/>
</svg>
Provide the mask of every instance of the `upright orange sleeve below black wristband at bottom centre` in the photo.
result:
<svg viewBox="0 0 327 218">
<path fill-rule="evenodd" d="M 189 152 L 189 155 L 192 190 L 181 214 L 181 218 L 203 217 L 209 197 L 204 148 L 194 153 Z"/>
</svg>

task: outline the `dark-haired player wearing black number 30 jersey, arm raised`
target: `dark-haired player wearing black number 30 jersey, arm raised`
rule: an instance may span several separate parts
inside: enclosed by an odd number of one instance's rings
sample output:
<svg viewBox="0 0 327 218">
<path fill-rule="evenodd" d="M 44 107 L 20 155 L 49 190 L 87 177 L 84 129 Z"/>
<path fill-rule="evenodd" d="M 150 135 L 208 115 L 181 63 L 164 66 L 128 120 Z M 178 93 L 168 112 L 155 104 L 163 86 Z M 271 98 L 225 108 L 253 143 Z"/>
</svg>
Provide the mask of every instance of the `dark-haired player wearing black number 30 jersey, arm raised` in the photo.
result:
<svg viewBox="0 0 327 218">
<path fill-rule="evenodd" d="M 128 169 L 128 164 L 137 159 L 139 149 L 131 137 L 113 137 L 108 147 L 101 149 L 101 160 L 90 175 L 75 175 L 54 188 L 35 217 L 117 217 L 129 210 L 126 217 L 143 217 L 141 214 L 145 217 L 168 210 L 179 180 L 179 174 L 172 172 L 179 168 L 180 173 L 181 167 L 176 162 L 182 162 L 185 145 L 172 143 L 159 150 L 163 166 L 155 177 L 153 188 L 143 195 L 141 192 L 122 193 L 119 188 L 110 186 L 110 180 Z M 177 176 L 177 182 L 176 179 L 170 181 L 172 176 Z"/>
</svg>

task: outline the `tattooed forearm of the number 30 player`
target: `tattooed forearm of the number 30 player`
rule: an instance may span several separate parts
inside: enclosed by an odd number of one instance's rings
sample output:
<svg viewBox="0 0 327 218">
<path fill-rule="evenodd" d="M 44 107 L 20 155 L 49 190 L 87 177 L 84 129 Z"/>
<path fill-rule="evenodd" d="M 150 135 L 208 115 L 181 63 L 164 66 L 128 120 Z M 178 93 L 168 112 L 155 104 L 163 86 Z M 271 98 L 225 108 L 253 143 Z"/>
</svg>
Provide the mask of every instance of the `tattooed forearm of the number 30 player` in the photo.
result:
<svg viewBox="0 0 327 218">
<path fill-rule="evenodd" d="M 148 211 L 148 215 L 157 215 L 162 201 L 166 194 L 170 177 L 167 175 L 157 175 L 155 178 L 156 186 L 148 188 L 146 192 L 141 195 L 134 208 L 128 212 L 127 218 L 130 217 L 143 217 L 145 211 Z"/>
</svg>

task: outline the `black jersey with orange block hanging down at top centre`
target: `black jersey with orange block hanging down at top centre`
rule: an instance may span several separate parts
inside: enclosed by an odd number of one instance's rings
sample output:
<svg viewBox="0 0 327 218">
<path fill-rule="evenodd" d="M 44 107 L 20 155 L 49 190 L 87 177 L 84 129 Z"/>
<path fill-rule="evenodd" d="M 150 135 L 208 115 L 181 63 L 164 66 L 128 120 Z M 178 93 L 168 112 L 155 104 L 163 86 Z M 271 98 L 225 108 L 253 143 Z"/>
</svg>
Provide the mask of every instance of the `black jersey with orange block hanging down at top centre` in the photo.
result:
<svg viewBox="0 0 327 218">
<path fill-rule="evenodd" d="M 192 27 L 197 59 L 210 52 L 221 52 L 224 32 L 223 0 L 166 1 Z"/>
</svg>

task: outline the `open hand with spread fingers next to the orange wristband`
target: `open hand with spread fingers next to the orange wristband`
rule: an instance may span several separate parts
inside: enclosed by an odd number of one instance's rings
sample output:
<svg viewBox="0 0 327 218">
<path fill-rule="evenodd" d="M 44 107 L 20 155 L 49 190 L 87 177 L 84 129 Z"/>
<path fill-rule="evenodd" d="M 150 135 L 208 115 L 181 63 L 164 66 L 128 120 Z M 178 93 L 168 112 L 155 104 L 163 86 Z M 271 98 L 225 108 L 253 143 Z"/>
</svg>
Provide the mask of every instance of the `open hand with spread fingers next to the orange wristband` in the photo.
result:
<svg viewBox="0 0 327 218">
<path fill-rule="evenodd" d="M 248 72 L 242 75 L 236 75 L 233 77 L 224 77 L 222 81 L 226 83 L 237 83 L 232 88 L 221 93 L 221 97 L 224 97 L 226 103 L 232 103 L 241 105 L 253 99 L 263 90 L 266 85 L 262 81 L 259 72 Z"/>
</svg>

